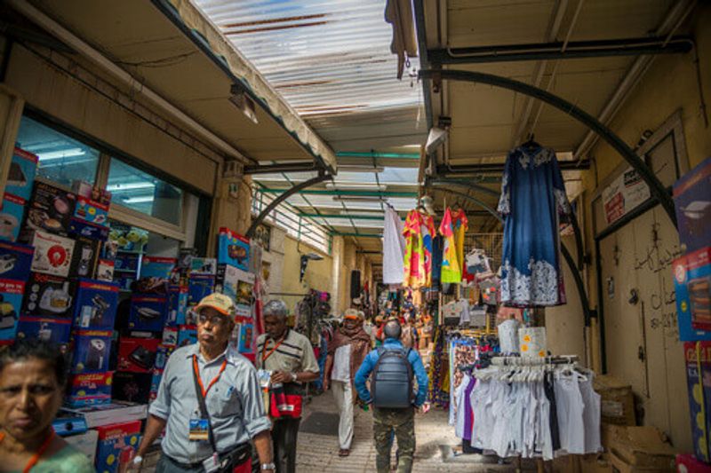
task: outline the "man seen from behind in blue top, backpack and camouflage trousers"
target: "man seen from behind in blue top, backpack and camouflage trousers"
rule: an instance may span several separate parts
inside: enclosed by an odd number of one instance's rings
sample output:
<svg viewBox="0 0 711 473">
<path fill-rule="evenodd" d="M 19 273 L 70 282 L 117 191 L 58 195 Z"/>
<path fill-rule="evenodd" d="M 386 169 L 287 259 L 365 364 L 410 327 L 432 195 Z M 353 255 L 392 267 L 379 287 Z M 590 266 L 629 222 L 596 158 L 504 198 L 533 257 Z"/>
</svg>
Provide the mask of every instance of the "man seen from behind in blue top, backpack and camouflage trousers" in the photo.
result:
<svg viewBox="0 0 711 473">
<path fill-rule="evenodd" d="M 397 319 L 387 320 L 383 333 L 385 342 L 365 357 L 354 384 L 358 396 L 373 407 L 378 472 L 390 471 L 390 450 L 395 432 L 397 471 L 410 473 L 415 453 L 415 409 L 423 406 L 427 398 L 427 373 L 419 353 L 403 348 L 400 342 L 403 328 Z M 370 390 L 365 385 L 369 377 Z M 413 390 L 414 378 L 417 378 L 417 392 Z"/>
</svg>

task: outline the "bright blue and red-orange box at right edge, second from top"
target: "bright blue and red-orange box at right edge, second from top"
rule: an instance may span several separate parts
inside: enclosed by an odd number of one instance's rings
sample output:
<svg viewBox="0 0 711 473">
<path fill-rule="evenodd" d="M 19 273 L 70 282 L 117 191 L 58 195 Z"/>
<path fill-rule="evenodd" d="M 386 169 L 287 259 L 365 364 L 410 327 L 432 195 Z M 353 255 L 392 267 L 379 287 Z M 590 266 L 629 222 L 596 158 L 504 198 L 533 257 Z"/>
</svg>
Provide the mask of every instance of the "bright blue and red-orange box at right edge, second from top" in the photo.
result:
<svg viewBox="0 0 711 473">
<path fill-rule="evenodd" d="M 672 263 L 679 340 L 711 340 L 711 247 Z"/>
</svg>

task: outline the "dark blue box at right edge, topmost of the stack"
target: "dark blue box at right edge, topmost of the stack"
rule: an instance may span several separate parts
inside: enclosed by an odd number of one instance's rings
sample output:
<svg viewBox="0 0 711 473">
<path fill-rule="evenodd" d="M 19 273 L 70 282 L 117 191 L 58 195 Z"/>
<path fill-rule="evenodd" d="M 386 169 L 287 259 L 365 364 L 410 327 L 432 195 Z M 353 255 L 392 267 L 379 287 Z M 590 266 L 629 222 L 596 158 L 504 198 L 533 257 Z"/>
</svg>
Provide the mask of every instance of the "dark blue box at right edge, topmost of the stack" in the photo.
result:
<svg viewBox="0 0 711 473">
<path fill-rule="evenodd" d="M 674 205 L 684 251 L 706 247 L 711 242 L 711 157 L 676 181 Z"/>
</svg>

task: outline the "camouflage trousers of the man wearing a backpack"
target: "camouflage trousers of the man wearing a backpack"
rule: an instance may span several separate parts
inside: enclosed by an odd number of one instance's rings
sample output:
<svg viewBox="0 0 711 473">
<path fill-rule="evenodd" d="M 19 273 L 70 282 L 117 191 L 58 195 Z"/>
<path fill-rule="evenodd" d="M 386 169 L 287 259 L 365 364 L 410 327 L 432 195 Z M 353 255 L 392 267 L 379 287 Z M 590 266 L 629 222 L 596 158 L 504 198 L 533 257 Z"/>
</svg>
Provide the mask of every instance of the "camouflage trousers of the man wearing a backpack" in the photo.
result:
<svg viewBox="0 0 711 473">
<path fill-rule="evenodd" d="M 410 473 L 412 457 L 415 454 L 415 410 L 378 409 L 372 410 L 373 438 L 378 456 L 375 465 L 378 473 L 390 471 L 390 451 L 393 434 L 397 438 L 397 473 Z"/>
</svg>

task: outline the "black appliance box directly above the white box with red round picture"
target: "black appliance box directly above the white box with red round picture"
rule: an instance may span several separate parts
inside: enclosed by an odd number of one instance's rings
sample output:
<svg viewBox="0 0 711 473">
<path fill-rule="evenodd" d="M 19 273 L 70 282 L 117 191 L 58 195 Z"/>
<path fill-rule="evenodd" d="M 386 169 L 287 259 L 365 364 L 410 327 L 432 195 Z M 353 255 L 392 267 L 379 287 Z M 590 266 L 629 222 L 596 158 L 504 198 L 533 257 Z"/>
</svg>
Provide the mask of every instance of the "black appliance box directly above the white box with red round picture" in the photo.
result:
<svg viewBox="0 0 711 473">
<path fill-rule="evenodd" d="M 25 232 L 40 230 L 67 236 L 75 204 L 75 193 L 68 193 L 44 182 L 35 182 L 28 201 L 28 217 L 23 227 L 23 235 Z M 29 237 L 25 239 L 23 236 L 23 240 L 29 240 Z"/>
</svg>

